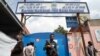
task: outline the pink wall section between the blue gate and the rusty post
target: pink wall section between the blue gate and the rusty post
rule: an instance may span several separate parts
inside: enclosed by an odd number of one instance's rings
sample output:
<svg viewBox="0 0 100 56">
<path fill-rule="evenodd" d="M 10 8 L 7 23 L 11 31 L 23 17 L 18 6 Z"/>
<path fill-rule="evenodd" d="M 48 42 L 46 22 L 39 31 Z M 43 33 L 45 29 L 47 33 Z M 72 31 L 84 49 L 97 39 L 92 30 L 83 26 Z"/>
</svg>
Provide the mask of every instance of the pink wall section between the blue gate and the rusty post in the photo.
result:
<svg viewBox="0 0 100 56">
<path fill-rule="evenodd" d="M 67 34 L 68 36 L 68 45 L 69 45 L 69 52 L 71 56 L 84 56 L 84 49 L 82 44 L 82 39 L 80 33 L 73 32 Z"/>
</svg>

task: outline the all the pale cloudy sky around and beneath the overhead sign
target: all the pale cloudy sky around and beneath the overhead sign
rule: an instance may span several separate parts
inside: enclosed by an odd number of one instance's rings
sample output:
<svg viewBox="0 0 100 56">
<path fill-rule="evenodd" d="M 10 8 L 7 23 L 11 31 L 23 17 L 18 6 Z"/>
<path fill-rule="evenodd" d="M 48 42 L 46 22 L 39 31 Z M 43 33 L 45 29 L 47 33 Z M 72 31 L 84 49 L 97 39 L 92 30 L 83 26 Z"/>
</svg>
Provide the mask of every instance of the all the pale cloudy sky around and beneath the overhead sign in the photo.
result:
<svg viewBox="0 0 100 56">
<path fill-rule="evenodd" d="M 17 2 L 23 0 L 6 0 L 10 5 L 11 9 L 16 10 Z M 33 0 L 27 0 L 33 1 Z M 40 0 L 37 0 L 40 1 Z M 51 0 L 46 0 L 51 1 Z M 53 1 L 53 0 L 52 0 Z M 100 0 L 58 0 L 58 1 L 81 1 L 87 2 L 88 7 L 90 9 L 90 17 L 92 19 L 100 19 Z M 20 19 L 20 15 L 16 14 Z M 63 26 L 64 29 L 69 30 L 66 26 L 65 17 L 30 17 L 26 22 L 26 27 L 30 33 L 38 33 L 38 32 L 53 32 L 59 25 Z"/>
</svg>

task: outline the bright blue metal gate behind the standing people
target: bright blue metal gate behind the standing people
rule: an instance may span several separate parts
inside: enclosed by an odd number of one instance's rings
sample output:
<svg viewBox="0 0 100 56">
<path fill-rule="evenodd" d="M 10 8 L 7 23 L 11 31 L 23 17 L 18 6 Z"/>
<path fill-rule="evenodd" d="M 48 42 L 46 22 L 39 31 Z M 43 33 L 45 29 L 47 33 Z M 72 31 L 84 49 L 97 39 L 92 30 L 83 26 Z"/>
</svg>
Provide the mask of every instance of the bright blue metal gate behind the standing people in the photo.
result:
<svg viewBox="0 0 100 56">
<path fill-rule="evenodd" d="M 51 33 L 35 33 L 23 37 L 24 46 L 29 42 L 34 42 L 35 56 L 46 56 L 46 51 L 43 50 L 45 42 L 49 39 Z M 54 33 L 54 41 L 57 43 L 57 52 L 59 56 L 69 56 L 67 37 L 62 34 Z"/>
</svg>

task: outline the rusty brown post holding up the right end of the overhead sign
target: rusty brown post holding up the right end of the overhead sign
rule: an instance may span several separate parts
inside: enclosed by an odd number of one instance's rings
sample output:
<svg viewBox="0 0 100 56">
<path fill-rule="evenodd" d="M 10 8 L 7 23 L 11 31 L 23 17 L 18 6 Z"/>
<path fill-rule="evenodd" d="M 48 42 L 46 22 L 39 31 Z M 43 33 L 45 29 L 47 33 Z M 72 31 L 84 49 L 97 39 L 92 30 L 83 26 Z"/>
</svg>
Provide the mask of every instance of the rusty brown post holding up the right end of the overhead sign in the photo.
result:
<svg viewBox="0 0 100 56">
<path fill-rule="evenodd" d="M 82 37 L 82 42 L 83 42 L 84 54 L 85 54 L 85 56 L 87 56 L 87 54 L 86 54 L 85 40 L 84 40 L 84 36 L 83 36 L 83 30 L 82 30 L 82 25 L 81 25 L 81 22 L 80 22 L 80 14 L 79 13 L 77 13 L 77 18 L 78 18 L 79 30 L 80 30 L 81 37 Z"/>
</svg>

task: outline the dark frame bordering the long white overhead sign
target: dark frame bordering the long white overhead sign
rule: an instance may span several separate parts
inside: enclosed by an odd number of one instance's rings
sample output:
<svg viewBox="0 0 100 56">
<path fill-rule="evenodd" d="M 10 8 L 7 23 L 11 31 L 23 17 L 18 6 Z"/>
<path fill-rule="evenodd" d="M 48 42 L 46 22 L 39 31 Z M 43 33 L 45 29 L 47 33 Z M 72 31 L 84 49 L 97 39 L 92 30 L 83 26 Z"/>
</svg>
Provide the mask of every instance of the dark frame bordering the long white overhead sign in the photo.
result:
<svg viewBox="0 0 100 56">
<path fill-rule="evenodd" d="M 89 7 L 88 7 L 88 5 L 87 5 L 87 3 L 86 2 L 44 2 L 44 1 L 39 1 L 39 2 L 18 2 L 17 3 L 17 7 L 16 7 L 16 11 L 15 11 L 15 13 L 16 14 L 21 14 L 22 12 L 17 12 L 17 10 L 18 10 L 18 4 L 19 3 L 79 3 L 79 4 L 81 4 L 81 3 L 83 3 L 83 4 L 86 4 L 86 9 L 87 9 L 87 12 L 27 12 L 27 13 L 24 13 L 24 14 L 46 14 L 46 13 L 50 13 L 50 14 L 55 14 L 55 13 L 65 13 L 65 14 L 67 14 L 67 13 L 81 13 L 81 14 L 90 14 L 90 11 L 89 11 Z"/>
</svg>

